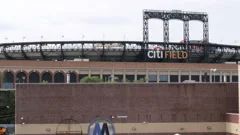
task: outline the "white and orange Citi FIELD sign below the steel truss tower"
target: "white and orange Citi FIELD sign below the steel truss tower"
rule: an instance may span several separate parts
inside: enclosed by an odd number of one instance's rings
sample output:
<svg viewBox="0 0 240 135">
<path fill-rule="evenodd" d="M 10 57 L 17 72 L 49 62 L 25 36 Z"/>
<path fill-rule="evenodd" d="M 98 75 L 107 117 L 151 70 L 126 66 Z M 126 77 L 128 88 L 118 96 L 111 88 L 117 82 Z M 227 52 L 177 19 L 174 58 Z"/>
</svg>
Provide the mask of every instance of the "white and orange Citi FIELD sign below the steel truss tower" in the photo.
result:
<svg viewBox="0 0 240 135">
<path fill-rule="evenodd" d="M 147 56 L 150 59 L 187 59 L 187 51 L 167 51 L 161 47 L 155 47 L 153 50 L 147 52 Z"/>
</svg>

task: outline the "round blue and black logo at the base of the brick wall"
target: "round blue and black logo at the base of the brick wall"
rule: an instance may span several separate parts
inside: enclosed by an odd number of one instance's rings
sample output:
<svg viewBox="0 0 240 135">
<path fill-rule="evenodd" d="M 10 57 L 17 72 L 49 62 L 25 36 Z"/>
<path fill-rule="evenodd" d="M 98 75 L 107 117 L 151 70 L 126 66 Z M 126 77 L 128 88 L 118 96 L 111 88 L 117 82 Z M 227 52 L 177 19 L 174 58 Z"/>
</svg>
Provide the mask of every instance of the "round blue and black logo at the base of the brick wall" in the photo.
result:
<svg viewBox="0 0 240 135">
<path fill-rule="evenodd" d="M 115 128 L 107 118 L 97 118 L 88 127 L 88 135 L 115 135 Z"/>
</svg>

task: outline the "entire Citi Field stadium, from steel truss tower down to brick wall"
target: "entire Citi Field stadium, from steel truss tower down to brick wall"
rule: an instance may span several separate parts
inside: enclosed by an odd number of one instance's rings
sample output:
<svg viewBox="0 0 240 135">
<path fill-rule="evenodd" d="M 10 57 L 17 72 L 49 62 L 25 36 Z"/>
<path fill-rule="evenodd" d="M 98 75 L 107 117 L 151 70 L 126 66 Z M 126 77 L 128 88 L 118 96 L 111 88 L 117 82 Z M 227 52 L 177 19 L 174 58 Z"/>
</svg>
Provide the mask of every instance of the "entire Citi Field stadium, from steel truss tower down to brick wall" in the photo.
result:
<svg viewBox="0 0 240 135">
<path fill-rule="evenodd" d="M 151 18 L 163 20 L 164 42 L 148 41 Z M 169 42 L 168 19 L 184 21 L 184 42 Z M 190 20 L 203 22 L 203 42 L 188 42 Z M 210 43 L 205 13 L 145 11 L 143 23 L 143 41 L 0 44 L 1 87 L 16 89 L 16 134 L 87 134 L 97 117 L 119 135 L 240 134 L 240 47 Z M 80 83 L 86 76 L 104 82 Z"/>
</svg>

